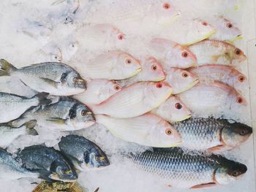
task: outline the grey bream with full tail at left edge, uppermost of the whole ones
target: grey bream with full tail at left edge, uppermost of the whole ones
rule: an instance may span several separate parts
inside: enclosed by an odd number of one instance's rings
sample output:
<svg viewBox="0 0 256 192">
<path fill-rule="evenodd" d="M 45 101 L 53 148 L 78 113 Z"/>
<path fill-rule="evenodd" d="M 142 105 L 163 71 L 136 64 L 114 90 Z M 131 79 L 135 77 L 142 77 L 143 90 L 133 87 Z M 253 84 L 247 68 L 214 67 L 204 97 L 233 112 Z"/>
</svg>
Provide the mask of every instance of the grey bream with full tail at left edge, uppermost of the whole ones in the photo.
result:
<svg viewBox="0 0 256 192">
<path fill-rule="evenodd" d="M 18 77 L 38 92 L 70 96 L 86 90 L 86 80 L 66 64 L 46 62 L 17 69 L 8 61 L 1 59 L 0 67 L 0 76 Z"/>
</svg>

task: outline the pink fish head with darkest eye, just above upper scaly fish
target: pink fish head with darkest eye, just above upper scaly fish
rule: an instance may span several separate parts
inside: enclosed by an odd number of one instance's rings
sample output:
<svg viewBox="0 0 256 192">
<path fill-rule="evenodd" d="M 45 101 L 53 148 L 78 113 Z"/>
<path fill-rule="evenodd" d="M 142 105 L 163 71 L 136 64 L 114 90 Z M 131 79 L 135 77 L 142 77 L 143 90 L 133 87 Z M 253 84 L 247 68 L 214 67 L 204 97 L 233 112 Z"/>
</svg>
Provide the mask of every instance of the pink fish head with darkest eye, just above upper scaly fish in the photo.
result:
<svg viewBox="0 0 256 192">
<path fill-rule="evenodd" d="M 165 107 L 167 113 L 170 113 L 172 121 L 181 121 L 191 117 L 191 111 L 176 96 L 170 96 L 165 101 Z"/>
</svg>

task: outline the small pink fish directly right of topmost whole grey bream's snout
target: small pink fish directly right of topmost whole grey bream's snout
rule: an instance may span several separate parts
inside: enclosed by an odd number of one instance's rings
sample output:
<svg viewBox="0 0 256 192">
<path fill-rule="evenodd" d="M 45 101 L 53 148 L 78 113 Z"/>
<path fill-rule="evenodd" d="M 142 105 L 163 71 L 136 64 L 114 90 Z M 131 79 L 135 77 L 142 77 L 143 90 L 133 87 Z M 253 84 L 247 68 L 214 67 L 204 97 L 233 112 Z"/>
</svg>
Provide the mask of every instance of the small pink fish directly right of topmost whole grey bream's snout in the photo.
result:
<svg viewBox="0 0 256 192">
<path fill-rule="evenodd" d="M 83 104 L 100 104 L 110 96 L 121 91 L 121 85 L 111 80 L 91 80 L 83 93 L 72 96 Z"/>
</svg>

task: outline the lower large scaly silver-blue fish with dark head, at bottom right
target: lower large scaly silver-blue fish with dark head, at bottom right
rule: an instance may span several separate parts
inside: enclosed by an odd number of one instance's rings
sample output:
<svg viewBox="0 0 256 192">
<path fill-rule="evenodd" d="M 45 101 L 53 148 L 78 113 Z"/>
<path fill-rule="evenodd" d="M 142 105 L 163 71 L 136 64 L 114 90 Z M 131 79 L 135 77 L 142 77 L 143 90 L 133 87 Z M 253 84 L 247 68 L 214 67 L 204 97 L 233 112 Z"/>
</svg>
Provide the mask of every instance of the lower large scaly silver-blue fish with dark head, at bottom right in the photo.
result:
<svg viewBox="0 0 256 192">
<path fill-rule="evenodd" d="M 181 148 L 155 149 L 135 155 L 140 169 L 156 174 L 175 188 L 207 188 L 227 185 L 247 171 L 244 164 L 220 155 L 192 155 Z"/>
</svg>

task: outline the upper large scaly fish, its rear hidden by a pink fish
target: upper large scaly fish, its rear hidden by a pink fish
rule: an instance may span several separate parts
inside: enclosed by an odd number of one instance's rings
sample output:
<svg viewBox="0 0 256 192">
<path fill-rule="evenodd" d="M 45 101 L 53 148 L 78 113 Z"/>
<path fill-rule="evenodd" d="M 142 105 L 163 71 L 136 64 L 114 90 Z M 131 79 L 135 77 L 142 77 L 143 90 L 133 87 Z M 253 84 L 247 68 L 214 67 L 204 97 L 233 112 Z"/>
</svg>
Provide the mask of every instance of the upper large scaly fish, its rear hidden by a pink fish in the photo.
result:
<svg viewBox="0 0 256 192">
<path fill-rule="evenodd" d="M 181 147 L 211 152 L 238 147 L 252 134 L 252 128 L 243 123 L 214 118 L 190 118 L 173 123 L 173 127 L 181 135 Z"/>
</svg>

